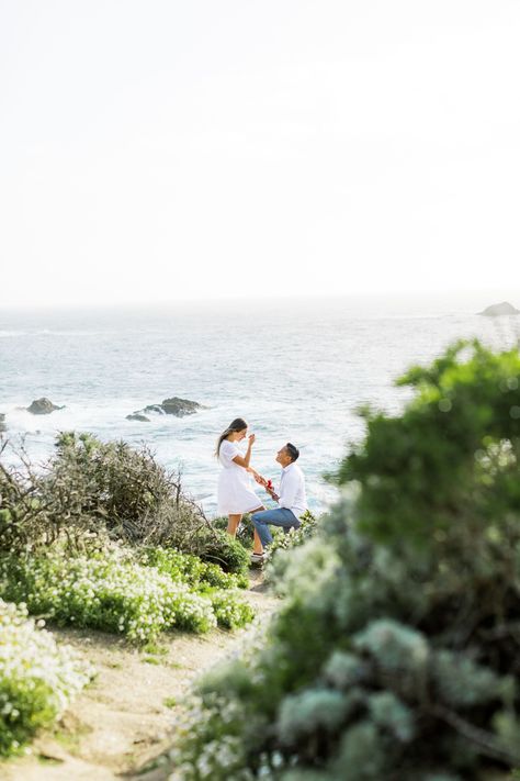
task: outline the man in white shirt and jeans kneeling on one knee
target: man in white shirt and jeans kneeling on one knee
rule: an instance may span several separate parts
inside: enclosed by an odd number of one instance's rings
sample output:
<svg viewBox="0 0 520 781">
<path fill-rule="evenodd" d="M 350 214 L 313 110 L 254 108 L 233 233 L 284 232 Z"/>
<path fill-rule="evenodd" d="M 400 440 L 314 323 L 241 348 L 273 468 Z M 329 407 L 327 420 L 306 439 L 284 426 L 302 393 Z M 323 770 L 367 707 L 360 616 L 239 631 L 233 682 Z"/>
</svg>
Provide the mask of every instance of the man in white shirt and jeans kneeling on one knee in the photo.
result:
<svg viewBox="0 0 520 781">
<path fill-rule="evenodd" d="M 305 478 L 295 462 L 298 456 L 299 450 L 290 442 L 278 451 L 276 461 L 282 467 L 282 478 L 278 493 L 265 481 L 262 481 L 271 499 L 280 505 L 274 510 L 262 510 L 251 515 L 251 521 L 258 532 L 263 549 L 273 540 L 269 526 L 281 526 L 285 533 L 291 528 L 298 528 L 299 518 L 307 510 Z M 259 562 L 262 560 L 262 554 L 252 554 L 251 561 Z"/>
</svg>

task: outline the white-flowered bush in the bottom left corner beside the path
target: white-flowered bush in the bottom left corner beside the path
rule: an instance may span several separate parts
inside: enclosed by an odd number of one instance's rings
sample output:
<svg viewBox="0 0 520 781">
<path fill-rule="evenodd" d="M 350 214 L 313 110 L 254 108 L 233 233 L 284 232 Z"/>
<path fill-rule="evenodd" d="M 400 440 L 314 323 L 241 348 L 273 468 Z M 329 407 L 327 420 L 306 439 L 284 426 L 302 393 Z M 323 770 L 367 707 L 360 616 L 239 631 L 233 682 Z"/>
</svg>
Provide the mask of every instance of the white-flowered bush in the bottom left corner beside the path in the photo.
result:
<svg viewBox="0 0 520 781">
<path fill-rule="evenodd" d="M 36 628 L 26 611 L 0 600 L 0 756 L 20 751 L 50 726 L 92 678 L 68 646 Z"/>
</svg>

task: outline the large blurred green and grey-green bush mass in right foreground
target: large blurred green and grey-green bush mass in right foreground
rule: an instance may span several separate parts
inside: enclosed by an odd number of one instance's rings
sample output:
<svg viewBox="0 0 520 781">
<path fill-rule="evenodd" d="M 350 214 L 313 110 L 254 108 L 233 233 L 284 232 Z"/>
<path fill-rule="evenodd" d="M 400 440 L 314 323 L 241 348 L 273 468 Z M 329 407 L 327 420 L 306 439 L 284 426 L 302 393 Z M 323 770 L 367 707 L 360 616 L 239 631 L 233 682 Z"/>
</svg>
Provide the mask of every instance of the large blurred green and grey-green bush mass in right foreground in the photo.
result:
<svg viewBox="0 0 520 781">
<path fill-rule="evenodd" d="M 349 495 L 201 683 L 172 781 L 488 781 L 520 763 L 520 356 L 459 343 L 363 410 Z"/>
</svg>

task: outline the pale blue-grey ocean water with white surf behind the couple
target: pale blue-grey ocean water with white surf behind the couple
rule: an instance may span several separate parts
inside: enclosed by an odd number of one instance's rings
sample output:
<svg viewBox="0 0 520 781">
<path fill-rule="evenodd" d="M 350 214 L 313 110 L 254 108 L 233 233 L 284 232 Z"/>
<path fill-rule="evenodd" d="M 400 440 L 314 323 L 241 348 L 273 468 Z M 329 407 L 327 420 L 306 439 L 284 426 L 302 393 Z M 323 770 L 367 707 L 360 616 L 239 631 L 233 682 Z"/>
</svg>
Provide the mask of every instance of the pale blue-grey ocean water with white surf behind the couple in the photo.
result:
<svg viewBox="0 0 520 781">
<path fill-rule="evenodd" d="M 0 412 L 10 440 L 23 436 L 35 461 L 52 453 L 58 431 L 144 442 L 168 468 L 181 468 L 208 515 L 216 511 L 215 440 L 241 416 L 257 435 L 252 465 L 267 477 L 278 479 L 281 445 L 299 447 L 309 504 L 319 512 L 336 497 L 324 473 L 363 435 L 360 404 L 398 412 L 409 391 L 395 378 L 456 338 L 504 347 L 518 338 L 520 317 L 478 316 L 479 303 L 338 298 L 5 310 Z M 125 420 L 173 395 L 207 409 Z M 65 409 L 44 416 L 23 409 L 39 397 Z"/>
</svg>

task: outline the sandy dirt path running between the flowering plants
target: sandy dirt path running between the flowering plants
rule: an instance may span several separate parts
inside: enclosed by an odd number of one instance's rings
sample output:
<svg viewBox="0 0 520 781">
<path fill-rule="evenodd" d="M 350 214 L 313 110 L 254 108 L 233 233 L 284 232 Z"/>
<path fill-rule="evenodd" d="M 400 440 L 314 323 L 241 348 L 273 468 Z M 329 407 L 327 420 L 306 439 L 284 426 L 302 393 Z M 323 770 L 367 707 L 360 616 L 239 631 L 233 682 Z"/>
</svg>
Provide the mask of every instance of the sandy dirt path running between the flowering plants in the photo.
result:
<svg viewBox="0 0 520 781">
<path fill-rule="evenodd" d="M 251 576 L 246 594 L 262 621 L 276 600 L 267 593 L 261 572 Z M 98 676 L 57 727 L 34 741 L 31 756 L 0 763 L 1 781 L 136 779 L 146 761 L 171 743 L 177 703 L 193 679 L 230 652 L 244 632 L 169 633 L 155 652 L 100 632 L 58 629 L 55 635 L 89 659 Z"/>
</svg>

